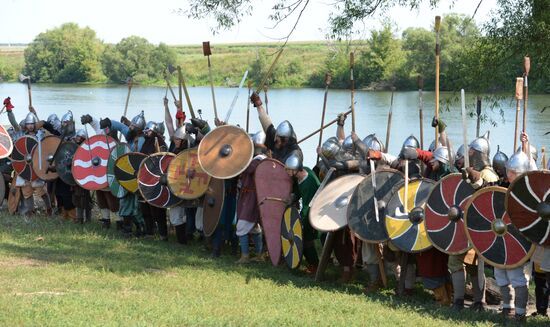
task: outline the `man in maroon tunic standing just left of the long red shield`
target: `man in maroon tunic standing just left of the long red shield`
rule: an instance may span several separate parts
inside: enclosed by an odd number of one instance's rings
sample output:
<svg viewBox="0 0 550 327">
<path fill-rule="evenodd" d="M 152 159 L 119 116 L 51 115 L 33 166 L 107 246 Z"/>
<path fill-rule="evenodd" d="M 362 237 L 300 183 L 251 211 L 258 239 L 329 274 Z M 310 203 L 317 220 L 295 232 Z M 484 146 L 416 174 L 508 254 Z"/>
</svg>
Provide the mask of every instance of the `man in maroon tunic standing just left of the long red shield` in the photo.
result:
<svg viewBox="0 0 550 327">
<path fill-rule="evenodd" d="M 254 173 L 260 162 L 267 158 L 267 148 L 265 146 L 265 133 L 259 131 L 252 134 L 252 143 L 254 143 L 254 158 L 241 173 L 239 177 L 240 190 L 237 202 L 237 237 L 241 247 L 241 258 L 237 263 L 248 263 L 252 261 L 263 261 L 262 257 L 262 228 L 260 226 L 260 208 L 256 198 L 256 185 L 254 183 Z M 256 256 L 250 259 L 249 241 L 251 236 L 254 241 Z"/>
</svg>

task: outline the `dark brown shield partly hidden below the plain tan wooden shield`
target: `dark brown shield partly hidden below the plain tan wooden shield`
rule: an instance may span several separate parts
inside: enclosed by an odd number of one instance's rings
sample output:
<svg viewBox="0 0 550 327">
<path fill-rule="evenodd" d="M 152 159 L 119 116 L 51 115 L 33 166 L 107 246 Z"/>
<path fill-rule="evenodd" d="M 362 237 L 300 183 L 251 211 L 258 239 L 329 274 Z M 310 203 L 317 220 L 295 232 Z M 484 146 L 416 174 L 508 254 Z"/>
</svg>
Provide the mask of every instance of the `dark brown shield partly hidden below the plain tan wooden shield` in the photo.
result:
<svg viewBox="0 0 550 327">
<path fill-rule="evenodd" d="M 218 227 L 223 211 L 225 199 L 225 182 L 223 179 L 212 178 L 204 194 L 203 201 L 203 232 L 207 237 L 212 236 Z"/>
</svg>

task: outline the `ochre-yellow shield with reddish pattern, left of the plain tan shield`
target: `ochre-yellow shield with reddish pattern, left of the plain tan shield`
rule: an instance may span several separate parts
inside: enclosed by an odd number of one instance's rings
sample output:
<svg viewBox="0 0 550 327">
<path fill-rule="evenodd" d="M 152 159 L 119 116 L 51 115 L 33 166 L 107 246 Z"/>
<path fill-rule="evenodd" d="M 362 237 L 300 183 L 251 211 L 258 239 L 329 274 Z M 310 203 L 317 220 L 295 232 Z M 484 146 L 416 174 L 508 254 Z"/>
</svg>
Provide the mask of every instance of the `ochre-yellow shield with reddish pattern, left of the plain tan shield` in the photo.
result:
<svg viewBox="0 0 550 327">
<path fill-rule="evenodd" d="M 177 197 L 192 200 L 208 189 L 210 175 L 199 165 L 197 149 L 184 150 L 168 166 L 168 187 Z"/>
</svg>

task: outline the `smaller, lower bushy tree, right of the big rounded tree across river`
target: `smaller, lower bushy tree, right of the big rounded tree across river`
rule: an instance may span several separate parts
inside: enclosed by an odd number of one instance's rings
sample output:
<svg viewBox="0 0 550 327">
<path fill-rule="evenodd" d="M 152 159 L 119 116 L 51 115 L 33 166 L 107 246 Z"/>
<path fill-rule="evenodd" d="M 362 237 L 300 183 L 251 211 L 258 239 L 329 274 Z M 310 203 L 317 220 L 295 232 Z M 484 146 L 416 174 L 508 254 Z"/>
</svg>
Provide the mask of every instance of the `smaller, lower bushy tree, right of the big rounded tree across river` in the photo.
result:
<svg viewBox="0 0 550 327">
<path fill-rule="evenodd" d="M 103 73 L 115 83 L 132 77 L 135 81 L 161 79 L 168 65 L 176 61 L 176 53 L 165 44 L 155 47 L 146 39 L 130 36 L 105 48 L 101 57 Z"/>
</svg>

